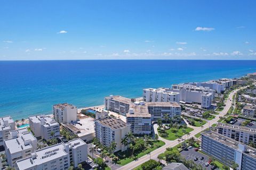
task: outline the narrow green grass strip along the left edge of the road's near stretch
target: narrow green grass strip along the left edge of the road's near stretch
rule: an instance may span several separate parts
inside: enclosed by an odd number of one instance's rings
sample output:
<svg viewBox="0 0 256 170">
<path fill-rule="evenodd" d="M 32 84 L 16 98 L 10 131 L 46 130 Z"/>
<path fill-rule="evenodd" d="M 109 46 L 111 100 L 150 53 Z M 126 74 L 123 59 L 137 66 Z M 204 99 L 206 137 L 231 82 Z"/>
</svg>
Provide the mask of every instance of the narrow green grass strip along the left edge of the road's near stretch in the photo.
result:
<svg viewBox="0 0 256 170">
<path fill-rule="evenodd" d="M 153 145 L 154 145 L 153 148 L 148 148 L 148 149 L 140 152 L 138 155 L 135 156 L 135 158 L 138 159 L 144 155 L 147 155 L 149 152 L 164 146 L 165 142 L 163 142 L 162 140 L 158 140 L 157 142 L 153 142 Z M 124 166 L 134 160 L 133 158 L 129 157 L 130 154 L 128 155 L 126 151 L 123 151 L 123 154 L 126 155 L 125 158 L 123 158 L 123 159 L 120 158 L 120 160 L 118 160 L 117 164 Z"/>
</svg>

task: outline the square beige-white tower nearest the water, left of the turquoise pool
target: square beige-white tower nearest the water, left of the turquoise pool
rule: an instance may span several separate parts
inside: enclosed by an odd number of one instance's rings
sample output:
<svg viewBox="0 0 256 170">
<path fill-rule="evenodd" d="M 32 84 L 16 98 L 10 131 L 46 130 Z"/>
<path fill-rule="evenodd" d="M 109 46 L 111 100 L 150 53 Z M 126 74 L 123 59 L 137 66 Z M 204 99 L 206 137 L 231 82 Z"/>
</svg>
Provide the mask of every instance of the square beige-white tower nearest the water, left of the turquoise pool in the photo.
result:
<svg viewBox="0 0 256 170">
<path fill-rule="evenodd" d="M 76 122 L 77 108 L 67 103 L 53 105 L 53 115 L 58 123 Z"/>
</svg>

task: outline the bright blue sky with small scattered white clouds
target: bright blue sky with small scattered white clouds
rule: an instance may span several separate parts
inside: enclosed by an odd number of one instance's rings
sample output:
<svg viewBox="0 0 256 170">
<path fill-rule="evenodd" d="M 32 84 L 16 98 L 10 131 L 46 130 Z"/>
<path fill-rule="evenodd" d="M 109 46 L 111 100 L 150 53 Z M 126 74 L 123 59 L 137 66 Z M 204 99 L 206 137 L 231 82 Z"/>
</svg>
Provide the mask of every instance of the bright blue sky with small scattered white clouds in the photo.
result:
<svg viewBox="0 0 256 170">
<path fill-rule="evenodd" d="M 256 1 L 0 1 L 0 60 L 256 59 Z"/>
</svg>

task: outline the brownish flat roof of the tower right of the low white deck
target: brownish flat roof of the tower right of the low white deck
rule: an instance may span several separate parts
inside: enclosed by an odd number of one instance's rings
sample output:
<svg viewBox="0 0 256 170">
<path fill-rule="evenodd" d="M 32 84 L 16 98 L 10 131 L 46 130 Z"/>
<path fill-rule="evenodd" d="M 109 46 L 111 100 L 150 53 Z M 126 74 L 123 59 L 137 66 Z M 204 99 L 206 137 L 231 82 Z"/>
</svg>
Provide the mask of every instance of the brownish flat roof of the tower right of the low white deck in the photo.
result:
<svg viewBox="0 0 256 170">
<path fill-rule="evenodd" d="M 127 124 L 125 122 L 123 122 L 122 120 L 119 120 L 117 118 L 113 118 L 113 117 L 107 117 L 104 119 L 95 120 L 95 122 L 98 122 L 104 126 L 107 126 L 111 129 L 113 129 L 113 130 L 127 127 Z"/>
</svg>

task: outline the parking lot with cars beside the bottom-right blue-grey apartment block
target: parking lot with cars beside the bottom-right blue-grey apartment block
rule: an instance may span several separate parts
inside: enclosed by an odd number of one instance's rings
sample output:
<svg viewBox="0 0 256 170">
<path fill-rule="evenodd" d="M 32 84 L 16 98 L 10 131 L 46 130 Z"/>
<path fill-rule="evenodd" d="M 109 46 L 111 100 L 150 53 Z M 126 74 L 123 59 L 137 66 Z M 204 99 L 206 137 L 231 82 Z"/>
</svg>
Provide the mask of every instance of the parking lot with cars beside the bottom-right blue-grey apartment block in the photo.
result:
<svg viewBox="0 0 256 170">
<path fill-rule="evenodd" d="M 209 156 L 202 154 L 202 152 L 199 151 L 195 151 L 195 148 L 191 148 L 191 149 L 185 149 L 182 150 L 180 152 L 181 156 L 184 157 L 186 160 L 193 160 L 194 158 L 198 158 L 197 161 L 194 161 L 194 163 L 196 163 L 197 165 L 202 165 L 203 169 L 207 169 L 210 170 L 211 169 L 211 165 L 209 165 L 208 167 L 205 166 L 205 163 L 207 163 L 209 161 Z M 200 160 L 201 157 L 204 157 L 203 160 Z"/>
</svg>

